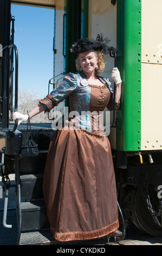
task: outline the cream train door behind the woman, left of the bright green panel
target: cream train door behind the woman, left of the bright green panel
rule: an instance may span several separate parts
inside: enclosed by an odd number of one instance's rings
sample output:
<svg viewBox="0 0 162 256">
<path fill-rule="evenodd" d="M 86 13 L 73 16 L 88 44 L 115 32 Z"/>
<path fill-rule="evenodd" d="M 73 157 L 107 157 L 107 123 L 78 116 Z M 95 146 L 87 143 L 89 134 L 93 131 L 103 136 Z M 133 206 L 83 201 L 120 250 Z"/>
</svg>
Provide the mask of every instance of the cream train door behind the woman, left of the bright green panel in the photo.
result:
<svg viewBox="0 0 162 256">
<path fill-rule="evenodd" d="M 109 46 L 116 47 L 116 4 L 112 4 L 112 1 L 107 0 L 89 0 L 89 28 L 88 36 L 89 38 L 96 38 L 97 34 L 102 33 L 105 38 L 110 39 Z M 105 57 L 105 70 L 100 75 L 103 77 L 108 77 L 111 81 L 111 86 L 113 88 L 114 83 L 111 77 L 112 69 L 114 68 L 114 58 L 110 56 Z M 105 109 L 104 112 L 107 110 Z M 113 111 L 112 111 L 113 112 Z M 109 119 L 109 124 L 112 124 L 113 113 L 108 111 L 103 114 L 104 125 L 106 125 L 106 120 Z M 113 127 L 109 131 L 109 141 L 111 147 L 115 149 L 116 147 L 116 128 Z"/>
</svg>

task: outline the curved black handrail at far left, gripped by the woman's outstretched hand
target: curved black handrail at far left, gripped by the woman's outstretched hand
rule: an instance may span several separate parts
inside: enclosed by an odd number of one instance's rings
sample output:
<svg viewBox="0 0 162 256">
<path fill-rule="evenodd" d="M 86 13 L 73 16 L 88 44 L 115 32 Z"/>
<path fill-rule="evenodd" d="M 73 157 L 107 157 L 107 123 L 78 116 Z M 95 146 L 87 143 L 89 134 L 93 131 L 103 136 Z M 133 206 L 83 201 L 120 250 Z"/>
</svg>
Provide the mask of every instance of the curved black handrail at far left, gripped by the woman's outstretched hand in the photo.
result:
<svg viewBox="0 0 162 256">
<path fill-rule="evenodd" d="M 14 112 L 17 111 L 17 105 L 18 105 L 18 51 L 15 44 L 7 45 L 5 46 L 2 51 L 4 50 L 10 50 L 11 48 L 14 48 L 15 51 L 15 106 L 14 106 Z M 10 132 L 15 132 L 18 125 L 18 119 L 15 120 L 15 125 Z"/>
</svg>

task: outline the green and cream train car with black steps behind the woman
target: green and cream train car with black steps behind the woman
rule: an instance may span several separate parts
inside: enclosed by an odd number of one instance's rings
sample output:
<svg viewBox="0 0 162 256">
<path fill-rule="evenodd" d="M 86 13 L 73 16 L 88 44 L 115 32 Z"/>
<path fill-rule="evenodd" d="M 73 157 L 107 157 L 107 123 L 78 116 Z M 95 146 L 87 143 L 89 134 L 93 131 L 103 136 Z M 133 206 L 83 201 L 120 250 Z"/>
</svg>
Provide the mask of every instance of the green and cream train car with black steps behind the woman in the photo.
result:
<svg viewBox="0 0 162 256">
<path fill-rule="evenodd" d="M 162 236 L 161 0 L 0 0 L 0 44 L 3 52 L 6 49 L 10 52 L 0 56 L 1 176 L 6 199 L 2 210 L 6 219 L 9 174 L 15 173 L 17 244 L 21 245 L 55 242 L 48 234 L 46 208 L 40 192 L 48 145 L 54 131 L 50 124 L 32 124 L 39 155 L 20 159 L 26 131 L 23 125 L 15 123 L 13 127 L 11 124 L 18 96 L 16 93 L 12 107 L 11 76 L 10 71 L 5 70 L 12 62 L 13 52 L 17 58 L 18 50 L 10 40 L 11 4 L 54 10 L 54 87 L 59 86 L 64 74 L 74 71 L 74 59 L 69 51 L 74 41 L 96 38 L 98 33 L 103 33 L 111 39 L 110 44 L 118 48 L 117 59 L 106 57 L 102 74 L 111 80 L 111 71 L 117 65 L 122 80 L 120 108 L 111 113 L 111 124 L 114 122 L 108 136 L 118 202 L 126 230 L 133 223 L 144 233 Z M 15 66 L 15 73 L 16 70 Z M 15 77 L 17 92 L 17 73 Z M 68 106 L 66 99 L 55 110 L 63 112 Z M 35 213 L 31 209 L 35 209 Z M 5 228 L 10 227 L 5 223 Z"/>
</svg>

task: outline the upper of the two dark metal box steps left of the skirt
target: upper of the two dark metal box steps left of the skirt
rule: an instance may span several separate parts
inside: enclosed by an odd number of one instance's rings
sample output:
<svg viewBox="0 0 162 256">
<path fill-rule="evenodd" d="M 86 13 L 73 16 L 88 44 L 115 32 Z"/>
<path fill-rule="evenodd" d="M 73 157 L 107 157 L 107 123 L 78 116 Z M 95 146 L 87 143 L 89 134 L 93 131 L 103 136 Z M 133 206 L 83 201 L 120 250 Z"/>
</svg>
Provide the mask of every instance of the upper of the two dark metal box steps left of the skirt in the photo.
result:
<svg viewBox="0 0 162 256">
<path fill-rule="evenodd" d="M 43 173 L 38 174 L 24 174 L 20 176 L 21 179 L 21 199 L 42 199 L 43 190 Z"/>
</svg>

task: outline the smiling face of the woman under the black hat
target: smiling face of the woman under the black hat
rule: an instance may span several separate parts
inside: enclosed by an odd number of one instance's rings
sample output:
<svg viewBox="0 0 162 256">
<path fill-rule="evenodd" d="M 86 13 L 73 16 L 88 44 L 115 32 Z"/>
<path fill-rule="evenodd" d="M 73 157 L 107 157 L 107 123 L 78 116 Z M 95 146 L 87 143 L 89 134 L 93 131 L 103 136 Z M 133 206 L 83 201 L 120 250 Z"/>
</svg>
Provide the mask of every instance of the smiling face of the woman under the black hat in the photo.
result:
<svg viewBox="0 0 162 256">
<path fill-rule="evenodd" d="M 79 53 L 80 65 L 84 73 L 92 73 L 95 71 L 98 59 L 94 50 Z"/>
</svg>

